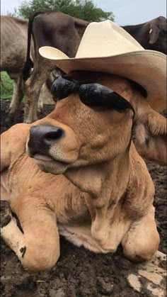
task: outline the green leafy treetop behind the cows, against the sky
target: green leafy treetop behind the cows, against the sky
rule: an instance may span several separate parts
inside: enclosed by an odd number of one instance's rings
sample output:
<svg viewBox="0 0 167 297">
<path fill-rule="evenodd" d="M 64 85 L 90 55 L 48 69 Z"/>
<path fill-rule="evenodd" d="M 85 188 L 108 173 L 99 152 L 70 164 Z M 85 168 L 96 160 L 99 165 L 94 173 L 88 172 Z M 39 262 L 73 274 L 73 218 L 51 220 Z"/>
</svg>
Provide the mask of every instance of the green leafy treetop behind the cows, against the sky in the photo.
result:
<svg viewBox="0 0 167 297">
<path fill-rule="evenodd" d="M 29 18 L 37 10 L 56 10 L 86 21 L 114 20 L 113 12 L 105 12 L 93 4 L 93 0 L 30 0 L 23 1 L 16 15 Z"/>
</svg>

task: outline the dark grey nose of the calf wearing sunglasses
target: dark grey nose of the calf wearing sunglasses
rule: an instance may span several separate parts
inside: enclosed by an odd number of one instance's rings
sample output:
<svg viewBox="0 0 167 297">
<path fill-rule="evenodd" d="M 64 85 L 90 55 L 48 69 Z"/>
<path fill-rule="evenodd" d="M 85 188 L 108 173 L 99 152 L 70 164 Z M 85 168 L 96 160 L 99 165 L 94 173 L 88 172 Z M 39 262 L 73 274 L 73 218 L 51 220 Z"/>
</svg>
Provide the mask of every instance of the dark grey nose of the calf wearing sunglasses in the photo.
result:
<svg viewBox="0 0 167 297">
<path fill-rule="evenodd" d="M 34 125 L 30 128 L 30 138 L 28 140 L 28 149 L 30 156 L 35 154 L 48 155 L 50 147 L 64 136 L 62 128 L 52 125 Z"/>
</svg>

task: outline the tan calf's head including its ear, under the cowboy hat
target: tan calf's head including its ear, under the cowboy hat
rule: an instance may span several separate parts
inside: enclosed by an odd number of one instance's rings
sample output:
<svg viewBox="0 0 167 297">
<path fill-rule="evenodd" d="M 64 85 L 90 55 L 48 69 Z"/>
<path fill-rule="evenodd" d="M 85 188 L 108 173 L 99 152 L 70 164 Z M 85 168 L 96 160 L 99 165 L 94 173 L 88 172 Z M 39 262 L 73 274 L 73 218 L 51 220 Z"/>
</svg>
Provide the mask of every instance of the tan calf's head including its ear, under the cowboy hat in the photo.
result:
<svg viewBox="0 0 167 297">
<path fill-rule="evenodd" d="M 80 93 L 75 84 L 64 87 L 66 82 L 62 81 L 58 88 L 60 94 L 57 94 L 61 97 L 62 89 L 66 89 L 67 97 L 59 100 L 54 111 L 30 129 L 28 154 L 34 157 L 42 170 L 61 174 L 69 168 L 123 158 L 129 153 L 132 130 L 136 131 L 140 152 L 144 149 L 149 159 L 164 162 L 162 137 L 166 132 L 165 119 L 146 103 L 142 88 L 110 74 L 76 72 L 70 77 L 77 77 L 81 82 Z M 93 82 L 89 91 L 83 81 Z M 120 97 L 110 94 L 110 90 L 108 95 L 108 89 L 100 89 L 98 84 L 112 89 Z M 93 102 L 101 100 L 100 91 L 106 92 L 103 95 L 105 104 L 96 106 Z M 87 95 L 84 99 L 82 92 Z M 156 145 L 157 139 L 159 144 Z"/>
</svg>

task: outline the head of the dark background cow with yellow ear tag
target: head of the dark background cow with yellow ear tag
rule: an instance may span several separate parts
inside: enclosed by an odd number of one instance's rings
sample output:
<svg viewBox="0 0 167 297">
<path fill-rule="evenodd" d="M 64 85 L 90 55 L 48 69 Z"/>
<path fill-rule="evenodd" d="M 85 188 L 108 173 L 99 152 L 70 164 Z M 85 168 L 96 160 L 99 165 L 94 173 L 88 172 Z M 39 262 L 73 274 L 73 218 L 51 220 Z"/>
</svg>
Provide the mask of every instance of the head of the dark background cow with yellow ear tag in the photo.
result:
<svg viewBox="0 0 167 297">
<path fill-rule="evenodd" d="M 149 28 L 149 43 L 154 46 L 156 50 L 166 54 L 166 18 L 159 16 L 150 22 Z"/>
</svg>

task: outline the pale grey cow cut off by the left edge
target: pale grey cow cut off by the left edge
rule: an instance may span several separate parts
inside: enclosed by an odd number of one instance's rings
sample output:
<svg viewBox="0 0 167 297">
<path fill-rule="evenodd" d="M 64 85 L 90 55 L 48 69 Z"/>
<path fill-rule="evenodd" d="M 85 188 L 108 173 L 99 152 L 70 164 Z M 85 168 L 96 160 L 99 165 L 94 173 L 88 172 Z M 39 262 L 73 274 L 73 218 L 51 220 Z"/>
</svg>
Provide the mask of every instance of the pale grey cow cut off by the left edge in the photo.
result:
<svg viewBox="0 0 167 297">
<path fill-rule="evenodd" d="M 1 71 L 13 79 L 13 95 L 8 108 L 9 115 L 18 108 L 23 99 L 22 69 L 27 53 L 28 20 L 13 16 L 1 16 Z M 33 57 L 33 40 L 30 48 Z M 31 67 L 33 64 L 30 60 Z"/>
</svg>

